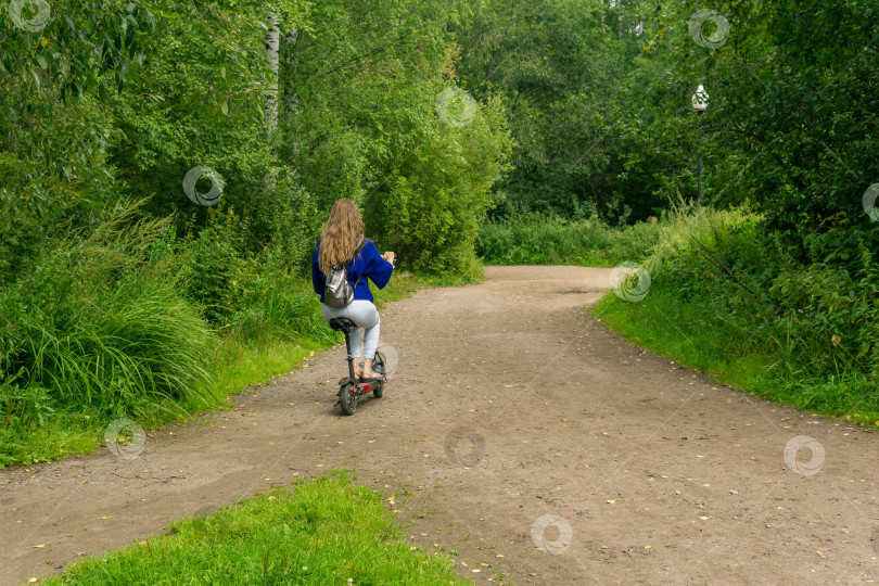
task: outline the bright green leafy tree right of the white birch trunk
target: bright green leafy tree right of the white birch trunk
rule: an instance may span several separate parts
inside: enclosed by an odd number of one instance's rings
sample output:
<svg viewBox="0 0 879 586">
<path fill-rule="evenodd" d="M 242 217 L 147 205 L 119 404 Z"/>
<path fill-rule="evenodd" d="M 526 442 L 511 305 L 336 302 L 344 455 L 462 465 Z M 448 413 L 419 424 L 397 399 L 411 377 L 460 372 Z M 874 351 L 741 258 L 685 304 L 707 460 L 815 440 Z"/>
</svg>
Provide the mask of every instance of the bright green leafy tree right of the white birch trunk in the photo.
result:
<svg viewBox="0 0 879 586">
<path fill-rule="evenodd" d="M 466 13 L 437 1 L 322 2 L 282 58 L 283 160 L 319 208 L 359 201 L 370 235 L 410 268 L 471 271 L 507 156 L 496 103 L 460 127 L 441 118 L 440 95 L 456 82 L 448 27 Z"/>
</svg>

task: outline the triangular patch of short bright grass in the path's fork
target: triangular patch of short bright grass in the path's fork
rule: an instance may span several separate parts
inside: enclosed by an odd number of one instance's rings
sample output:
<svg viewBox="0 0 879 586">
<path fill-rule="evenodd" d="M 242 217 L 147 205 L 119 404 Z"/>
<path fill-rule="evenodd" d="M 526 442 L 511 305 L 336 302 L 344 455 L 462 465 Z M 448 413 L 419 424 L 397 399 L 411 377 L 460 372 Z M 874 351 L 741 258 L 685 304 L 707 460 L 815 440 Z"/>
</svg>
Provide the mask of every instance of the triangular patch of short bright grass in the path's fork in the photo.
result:
<svg viewBox="0 0 879 586">
<path fill-rule="evenodd" d="M 450 558 L 410 549 L 382 498 L 346 473 L 176 521 L 170 533 L 78 561 L 44 584 L 472 584 Z"/>
</svg>

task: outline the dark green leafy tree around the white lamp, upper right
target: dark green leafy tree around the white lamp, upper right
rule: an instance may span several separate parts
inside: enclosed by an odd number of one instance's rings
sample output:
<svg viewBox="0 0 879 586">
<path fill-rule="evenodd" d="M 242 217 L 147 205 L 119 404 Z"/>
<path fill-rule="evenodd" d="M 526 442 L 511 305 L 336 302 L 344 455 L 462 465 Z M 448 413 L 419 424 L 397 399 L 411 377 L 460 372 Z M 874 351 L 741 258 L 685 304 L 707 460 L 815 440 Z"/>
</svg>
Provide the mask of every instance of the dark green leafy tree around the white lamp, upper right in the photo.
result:
<svg viewBox="0 0 879 586">
<path fill-rule="evenodd" d="M 879 176 L 879 95 L 870 91 L 879 16 L 870 2 L 721 2 L 702 30 L 711 37 L 711 27 L 729 23 L 716 47 L 690 36 L 699 8 L 662 3 L 645 21 L 644 56 L 634 62 L 629 90 L 645 95 L 642 145 L 660 144 L 678 162 L 700 151 L 706 203 L 752 201 L 769 228 L 797 239 L 842 230 L 841 242 L 854 234 L 850 229 L 874 239 L 862 206 Z M 711 94 L 702 118 L 686 101 L 699 84 Z M 678 163 L 657 179 L 671 193 L 691 184 L 688 175 Z"/>
</svg>

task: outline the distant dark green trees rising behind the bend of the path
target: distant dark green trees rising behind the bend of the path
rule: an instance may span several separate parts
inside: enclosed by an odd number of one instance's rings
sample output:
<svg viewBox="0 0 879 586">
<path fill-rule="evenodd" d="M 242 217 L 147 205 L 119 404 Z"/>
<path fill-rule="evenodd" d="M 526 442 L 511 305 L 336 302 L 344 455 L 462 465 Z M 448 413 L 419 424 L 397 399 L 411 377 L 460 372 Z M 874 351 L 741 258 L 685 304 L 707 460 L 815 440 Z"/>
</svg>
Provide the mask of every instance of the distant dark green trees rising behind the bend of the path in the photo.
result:
<svg viewBox="0 0 879 586">
<path fill-rule="evenodd" d="M 538 211 L 646 218 L 658 204 L 638 191 L 621 141 L 621 89 L 636 25 L 599 0 L 477 3 L 457 30 L 458 72 L 483 99 L 504 95 L 517 140 L 498 186 L 500 215 Z"/>
</svg>

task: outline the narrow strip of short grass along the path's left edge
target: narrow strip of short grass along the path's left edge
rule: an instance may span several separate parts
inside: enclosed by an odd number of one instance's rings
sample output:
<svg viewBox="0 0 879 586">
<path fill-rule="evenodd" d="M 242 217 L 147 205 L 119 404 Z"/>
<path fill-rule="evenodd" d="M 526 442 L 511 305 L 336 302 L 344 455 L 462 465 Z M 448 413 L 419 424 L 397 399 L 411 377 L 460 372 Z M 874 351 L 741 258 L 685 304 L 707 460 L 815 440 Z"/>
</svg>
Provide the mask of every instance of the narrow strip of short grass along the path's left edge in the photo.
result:
<svg viewBox="0 0 879 586">
<path fill-rule="evenodd" d="M 444 284 L 449 283 L 436 278 L 400 275 L 384 290 L 373 291 L 373 294 L 381 308 L 418 289 Z M 186 422 L 206 410 L 228 408 L 229 395 L 286 374 L 304 358 L 341 341 L 341 335 L 323 327 L 320 303 L 317 295 L 309 296 L 309 286 L 310 283 L 305 281 L 296 285 L 300 296 L 306 301 L 295 308 L 296 319 L 308 327 L 290 332 L 278 328 L 251 328 L 246 332 L 232 328 L 217 339 L 205 367 L 206 377 L 192 385 L 191 393 L 177 400 L 146 405 L 137 412 L 124 413 L 125 417 L 149 429 Z M 264 321 L 272 319 L 271 316 L 264 317 Z M 278 318 L 276 323 L 280 322 L 283 320 Z M 101 445 L 104 430 L 116 419 L 104 409 L 89 408 L 84 404 L 66 409 L 47 406 L 42 411 L 36 409 L 37 415 L 34 415 L 34 406 L 39 407 L 36 402 L 40 398 L 24 399 L 17 404 L 7 399 L 5 421 L 0 409 L 0 468 L 88 454 Z M 16 419 L 16 409 L 25 411 L 27 417 Z"/>
</svg>

